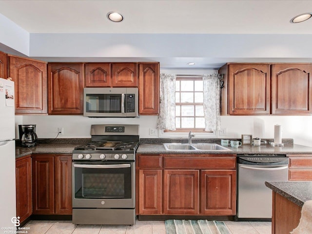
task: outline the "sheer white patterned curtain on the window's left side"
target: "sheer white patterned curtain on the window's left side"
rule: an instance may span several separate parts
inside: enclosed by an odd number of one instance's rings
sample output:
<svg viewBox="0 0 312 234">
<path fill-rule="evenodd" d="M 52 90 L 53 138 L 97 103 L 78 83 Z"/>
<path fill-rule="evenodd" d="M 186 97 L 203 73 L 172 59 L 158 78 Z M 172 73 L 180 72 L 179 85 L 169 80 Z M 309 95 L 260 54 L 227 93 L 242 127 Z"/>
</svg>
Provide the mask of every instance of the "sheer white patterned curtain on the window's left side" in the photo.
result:
<svg viewBox="0 0 312 234">
<path fill-rule="evenodd" d="M 160 74 L 157 129 L 176 130 L 176 74 Z"/>
</svg>

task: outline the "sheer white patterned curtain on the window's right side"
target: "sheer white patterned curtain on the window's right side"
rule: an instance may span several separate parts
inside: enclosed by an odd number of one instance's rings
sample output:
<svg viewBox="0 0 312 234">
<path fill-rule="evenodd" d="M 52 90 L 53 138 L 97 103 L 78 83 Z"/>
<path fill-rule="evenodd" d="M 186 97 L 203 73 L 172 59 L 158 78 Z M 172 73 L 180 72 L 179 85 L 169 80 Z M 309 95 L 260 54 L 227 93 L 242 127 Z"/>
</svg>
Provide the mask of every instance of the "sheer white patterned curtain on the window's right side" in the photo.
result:
<svg viewBox="0 0 312 234">
<path fill-rule="evenodd" d="M 221 74 L 203 75 L 205 131 L 220 129 L 220 78 Z"/>
</svg>

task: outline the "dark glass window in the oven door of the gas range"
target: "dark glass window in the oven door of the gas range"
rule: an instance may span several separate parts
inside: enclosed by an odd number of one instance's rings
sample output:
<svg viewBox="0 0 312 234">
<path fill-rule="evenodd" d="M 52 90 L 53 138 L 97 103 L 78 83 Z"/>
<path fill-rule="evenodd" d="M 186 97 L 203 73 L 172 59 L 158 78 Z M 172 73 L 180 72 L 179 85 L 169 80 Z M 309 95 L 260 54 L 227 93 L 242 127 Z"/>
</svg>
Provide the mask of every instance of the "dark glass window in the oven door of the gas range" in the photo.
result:
<svg viewBox="0 0 312 234">
<path fill-rule="evenodd" d="M 75 198 L 132 198 L 131 169 L 75 168 Z"/>
</svg>

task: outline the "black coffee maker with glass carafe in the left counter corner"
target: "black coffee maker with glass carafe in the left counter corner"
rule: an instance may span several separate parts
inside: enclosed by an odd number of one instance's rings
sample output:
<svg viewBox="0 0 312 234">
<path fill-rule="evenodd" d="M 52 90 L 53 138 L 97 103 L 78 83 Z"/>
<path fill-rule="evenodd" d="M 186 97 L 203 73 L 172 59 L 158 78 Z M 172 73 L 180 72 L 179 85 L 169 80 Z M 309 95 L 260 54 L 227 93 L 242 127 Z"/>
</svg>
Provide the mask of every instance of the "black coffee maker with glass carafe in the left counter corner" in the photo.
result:
<svg viewBox="0 0 312 234">
<path fill-rule="evenodd" d="M 38 139 L 36 134 L 36 124 L 19 125 L 20 144 L 23 147 L 34 147 Z"/>
</svg>

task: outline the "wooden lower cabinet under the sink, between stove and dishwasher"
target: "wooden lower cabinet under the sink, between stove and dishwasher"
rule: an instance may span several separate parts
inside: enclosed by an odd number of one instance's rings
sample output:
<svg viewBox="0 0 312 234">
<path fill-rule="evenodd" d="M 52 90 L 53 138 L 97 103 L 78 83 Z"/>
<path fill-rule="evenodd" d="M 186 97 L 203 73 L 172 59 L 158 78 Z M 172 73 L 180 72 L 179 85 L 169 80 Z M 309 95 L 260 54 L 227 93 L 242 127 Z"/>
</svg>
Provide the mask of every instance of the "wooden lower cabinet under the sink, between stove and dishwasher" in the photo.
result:
<svg viewBox="0 0 312 234">
<path fill-rule="evenodd" d="M 236 214 L 236 156 L 190 158 L 137 155 L 138 215 Z"/>
</svg>

